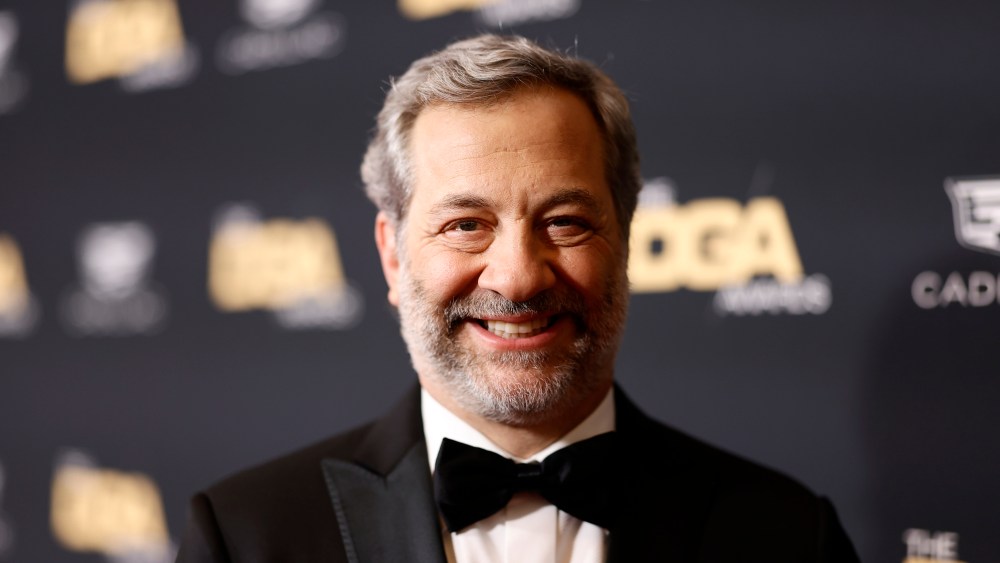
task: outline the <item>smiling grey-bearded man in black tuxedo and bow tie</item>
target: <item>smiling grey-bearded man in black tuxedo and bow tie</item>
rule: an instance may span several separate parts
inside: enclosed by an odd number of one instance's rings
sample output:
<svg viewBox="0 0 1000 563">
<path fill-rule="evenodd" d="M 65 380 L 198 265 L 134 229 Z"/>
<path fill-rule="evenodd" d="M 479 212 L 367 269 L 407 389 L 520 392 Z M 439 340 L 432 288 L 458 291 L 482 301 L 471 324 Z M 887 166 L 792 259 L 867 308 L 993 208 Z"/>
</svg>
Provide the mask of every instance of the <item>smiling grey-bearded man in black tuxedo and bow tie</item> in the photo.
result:
<svg viewBox="0 0 1000 563">
<path fill-rule="evenodd" d="M 857 560 L 827 501 L 614 387 L 640 179 L 596 67 L 452 44 L 392 85 L 362 176 L 420 388 L 197 495 L 178 561 Z"/>
</svg>

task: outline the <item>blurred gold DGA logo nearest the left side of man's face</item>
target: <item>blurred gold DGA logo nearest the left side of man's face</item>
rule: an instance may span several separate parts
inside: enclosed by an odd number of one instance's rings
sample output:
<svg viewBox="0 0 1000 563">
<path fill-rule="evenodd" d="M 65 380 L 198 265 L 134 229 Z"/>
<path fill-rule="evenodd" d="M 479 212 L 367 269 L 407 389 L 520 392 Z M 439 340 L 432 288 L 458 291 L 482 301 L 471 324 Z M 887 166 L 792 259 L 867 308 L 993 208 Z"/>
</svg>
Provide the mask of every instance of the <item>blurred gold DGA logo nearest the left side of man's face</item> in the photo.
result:
<svg viewBox="0 0 1000 563">
<path fill-rule="evenodd" d="M 208 288 L 223 311 L 271 311 L 281 326 L 292 329 L 350 328 L 363 309 L 325 222 L 263 221 L 247 205 L 219 214 L 209 249 Z"/>
</svg>

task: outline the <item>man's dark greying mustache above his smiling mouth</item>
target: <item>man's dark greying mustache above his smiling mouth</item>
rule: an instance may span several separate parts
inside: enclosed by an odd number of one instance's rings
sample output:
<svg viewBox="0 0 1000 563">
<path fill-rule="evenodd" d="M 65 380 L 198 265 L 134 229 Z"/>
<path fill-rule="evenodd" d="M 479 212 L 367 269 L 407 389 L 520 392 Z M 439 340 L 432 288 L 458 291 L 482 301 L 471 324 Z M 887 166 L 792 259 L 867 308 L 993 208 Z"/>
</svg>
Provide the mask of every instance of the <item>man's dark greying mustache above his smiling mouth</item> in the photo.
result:
<svg viewBox="0 0 1000 563">
<path fill-rule="evenodd" d="M 569 314 L 580 324 L 586 310 L 583 298 L 571 291 L 547 290 L 526 301 L 511 301 L 493 291 L 477 291 L 452 299 L 445 306 L 444 319 L 449 330 L 469 318 L 513 315 Z"/>
</svg>

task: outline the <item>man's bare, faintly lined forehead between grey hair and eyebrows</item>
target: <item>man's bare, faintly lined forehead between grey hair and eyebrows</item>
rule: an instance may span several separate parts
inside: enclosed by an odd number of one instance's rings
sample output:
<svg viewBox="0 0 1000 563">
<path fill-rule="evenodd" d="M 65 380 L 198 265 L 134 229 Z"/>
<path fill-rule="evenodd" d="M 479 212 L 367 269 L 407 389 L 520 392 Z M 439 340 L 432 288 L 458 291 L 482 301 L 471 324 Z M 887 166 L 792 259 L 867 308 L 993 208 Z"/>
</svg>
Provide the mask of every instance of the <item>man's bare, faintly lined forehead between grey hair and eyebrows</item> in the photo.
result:
<svg viewBox="0 0 1000 563">
<path fill-rule="evenodd" d="M 414 123 L 410 154 L 413 200 L 566 188 L 610 198 L 597 122 L 583 100 L 557 88 L 525 88 L 487 106 L 432 105 Z"/>
</svg>

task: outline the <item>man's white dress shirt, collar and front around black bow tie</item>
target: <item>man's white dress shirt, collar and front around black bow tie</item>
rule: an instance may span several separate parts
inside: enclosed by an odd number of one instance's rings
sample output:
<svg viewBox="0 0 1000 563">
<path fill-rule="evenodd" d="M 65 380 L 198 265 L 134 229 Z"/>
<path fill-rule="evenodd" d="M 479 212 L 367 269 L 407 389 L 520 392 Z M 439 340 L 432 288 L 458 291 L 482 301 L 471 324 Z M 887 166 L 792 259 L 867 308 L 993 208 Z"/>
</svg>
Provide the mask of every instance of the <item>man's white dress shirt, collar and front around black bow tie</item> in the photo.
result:
<svg viewBox="0 0 1000 563">
<path fill-rule="evenodd" d="M 541 461 L 556 450 L 615 429 L 612 389 L 576 428 L 530 458 L 520 459 L 466 424 L 427 391 L 421 391 L 420 408 L 431 471 L 444 438 L 523 463 Z M 607 530 L 566 514 L 536 493 L 515 494 L 506 508 L 459 532 L 449 533 L 443 522 L 442 530 L 449 563 L 599 563 L 607 552 Z"/>
</svg>

